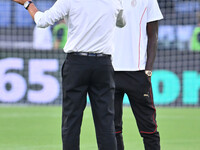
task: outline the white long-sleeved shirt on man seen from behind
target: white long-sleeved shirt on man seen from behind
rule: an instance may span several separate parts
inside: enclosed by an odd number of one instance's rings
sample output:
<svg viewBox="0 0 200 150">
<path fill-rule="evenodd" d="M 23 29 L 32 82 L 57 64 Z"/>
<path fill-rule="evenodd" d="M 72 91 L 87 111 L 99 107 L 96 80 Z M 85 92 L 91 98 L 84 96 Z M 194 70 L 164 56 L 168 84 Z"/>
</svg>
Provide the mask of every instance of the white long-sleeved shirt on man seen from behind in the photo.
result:
<svg viewBox="0 0 200 150">
<path fill-rule="evenodd" d="M 94 52 L 112 54 L 114 30 L 120 0 L 57 0 L 47 11 L 34 16 L 38 27 L 53 25 L 65 18 L 68 40 L 64 52 Z"/>
</svg>

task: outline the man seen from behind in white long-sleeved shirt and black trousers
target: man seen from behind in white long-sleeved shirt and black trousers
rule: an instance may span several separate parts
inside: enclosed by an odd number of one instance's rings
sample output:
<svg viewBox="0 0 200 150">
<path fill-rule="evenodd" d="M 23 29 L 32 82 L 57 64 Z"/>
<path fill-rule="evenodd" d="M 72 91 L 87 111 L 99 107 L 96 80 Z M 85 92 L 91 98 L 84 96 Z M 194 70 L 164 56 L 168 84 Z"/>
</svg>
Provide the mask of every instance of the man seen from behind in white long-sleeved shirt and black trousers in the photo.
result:
<svg viewBox="0 0 200 150">
<path fill-rule="evenodd" d="M 57 0 L 40 12 L 32 1 L 24 5 L 38 27 L 68 20 L 67 58 L 62 66 L 63 150 L 79 150 L 80 128 L 89 94 L 99 150 L 116 150 L 114 70 L 111 63 L 115 26 L 124 26 L 120 0 Z"/>
</svg>

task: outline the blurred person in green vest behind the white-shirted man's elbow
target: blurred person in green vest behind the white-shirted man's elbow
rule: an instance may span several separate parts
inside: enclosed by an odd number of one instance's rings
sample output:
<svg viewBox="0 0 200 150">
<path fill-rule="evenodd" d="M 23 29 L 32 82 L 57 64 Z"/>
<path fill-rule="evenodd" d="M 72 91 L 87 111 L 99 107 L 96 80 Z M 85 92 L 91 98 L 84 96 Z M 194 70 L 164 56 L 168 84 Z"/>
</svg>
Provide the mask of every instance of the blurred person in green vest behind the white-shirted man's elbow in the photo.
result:
<svg viewBox="0 0 200 150">
<path fill-rule="evenodd" d="M 67 42 L 68 28 L 64 20 L 60 20 L 53 28 L 53 48 L 63 49 Z"/>
</svg>

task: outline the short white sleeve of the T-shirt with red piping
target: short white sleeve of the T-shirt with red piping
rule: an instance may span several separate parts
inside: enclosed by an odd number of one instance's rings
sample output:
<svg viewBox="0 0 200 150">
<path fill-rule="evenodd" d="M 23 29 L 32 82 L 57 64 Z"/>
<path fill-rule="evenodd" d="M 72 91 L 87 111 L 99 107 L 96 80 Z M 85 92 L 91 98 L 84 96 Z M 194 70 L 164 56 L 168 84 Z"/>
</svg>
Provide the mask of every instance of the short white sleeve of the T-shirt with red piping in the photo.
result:
<svg viewBox="0 0 200 150">
<path fill-rule="evenodd" d="M 147 22 L 163 19 L 157 0 L 148 0 Z"/>
</svg>

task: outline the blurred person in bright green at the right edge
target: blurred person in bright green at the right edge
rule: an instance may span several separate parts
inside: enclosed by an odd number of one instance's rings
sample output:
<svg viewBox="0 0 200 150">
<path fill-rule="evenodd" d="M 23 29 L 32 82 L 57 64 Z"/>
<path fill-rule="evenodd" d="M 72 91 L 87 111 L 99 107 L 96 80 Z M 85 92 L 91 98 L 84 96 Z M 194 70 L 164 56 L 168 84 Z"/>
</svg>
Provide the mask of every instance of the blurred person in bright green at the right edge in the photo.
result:
<svg viewBox="0 0 200 150">
<path fill-rule="evenodd" d="M 197 20 L 198 24 L 192 34 L 191 50 L 200 52 L 200 12 L 197 13 Z"/>
</svg>

